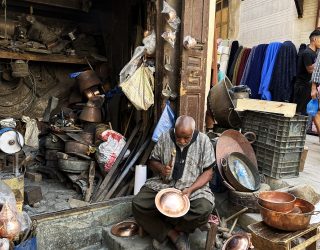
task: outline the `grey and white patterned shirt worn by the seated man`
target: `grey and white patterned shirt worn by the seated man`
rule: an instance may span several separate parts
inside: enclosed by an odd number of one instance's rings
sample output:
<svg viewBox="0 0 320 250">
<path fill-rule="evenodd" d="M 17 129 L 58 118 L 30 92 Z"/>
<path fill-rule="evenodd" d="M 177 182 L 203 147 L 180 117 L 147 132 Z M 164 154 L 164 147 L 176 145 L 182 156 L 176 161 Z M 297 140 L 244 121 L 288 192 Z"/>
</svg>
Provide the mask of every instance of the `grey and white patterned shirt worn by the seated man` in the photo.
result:
<svg viewBox="0 0 320 250">
<path fill-rule="evenodd" d="M 172 134 L 170 133 L 172 133 L 172 131 L 165 132 L 160 136 L 159 141 L 151 153 L 150 159 L 159 161 L 163 165 L 170 162 L 172 150 L 179 150 L 174 143 Z M 179 161 L 178 155 L 179 154 L 177 152 L 175 168 L 177 166 L 177 161 Z M 183 159 L 184 168 L 182 170 L 181 178 L 179 177 L 178 180 L 174 180 L 172 174 L 175 170 L 173 170 L 169 176 L 168 182 L 164 182 L 161 176 L 158 175 L 148 179 L 145 186 L 157 192 L 169 187 L 175 187 L 179 190 L 183 190 L 190 187 L 205 170 L 213 167 L 214 161 L 214 149 L 209 137 L 199 132 L 195 140 L 190 142 L 185 159 Z M 209 183 L 190 195 L 190 200 L 198 198 L 205 198 L 214 204 L 214 197 L 209 188 Z"/>
</svg>

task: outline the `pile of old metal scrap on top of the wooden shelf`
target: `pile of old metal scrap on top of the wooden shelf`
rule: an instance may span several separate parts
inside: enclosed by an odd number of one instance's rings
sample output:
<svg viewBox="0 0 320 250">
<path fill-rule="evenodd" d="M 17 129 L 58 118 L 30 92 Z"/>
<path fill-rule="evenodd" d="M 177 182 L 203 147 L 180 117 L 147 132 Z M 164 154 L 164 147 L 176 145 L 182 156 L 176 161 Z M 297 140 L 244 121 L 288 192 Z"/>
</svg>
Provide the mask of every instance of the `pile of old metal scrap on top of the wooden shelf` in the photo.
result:
<svg viewBox="0 0 320 250">
<path fill-rule="evenodd" d="M 47 25 L 34 15 L 20 20 L 0 19 L 0 48 L 13 52 L 90 56 L 97 54 L 95 39 L 75 27 Z"/>
</svg>

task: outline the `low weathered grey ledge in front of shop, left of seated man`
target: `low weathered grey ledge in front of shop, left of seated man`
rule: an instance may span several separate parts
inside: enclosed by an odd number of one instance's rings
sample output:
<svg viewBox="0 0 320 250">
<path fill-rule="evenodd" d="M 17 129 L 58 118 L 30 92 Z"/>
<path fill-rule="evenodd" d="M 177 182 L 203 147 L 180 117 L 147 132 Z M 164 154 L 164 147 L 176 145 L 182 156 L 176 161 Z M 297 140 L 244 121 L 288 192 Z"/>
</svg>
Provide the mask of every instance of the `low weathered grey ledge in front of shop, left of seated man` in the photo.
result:
<svg viewBox="0 0 320 250">
<path fill-rule="evenodd" d="M 131 216 L 132 196 L 109 200 L 82 209 L 40 215 L 36 219 L 37 249 L 81 249 L 99 244 L 102 228 Z"/>
</svg>

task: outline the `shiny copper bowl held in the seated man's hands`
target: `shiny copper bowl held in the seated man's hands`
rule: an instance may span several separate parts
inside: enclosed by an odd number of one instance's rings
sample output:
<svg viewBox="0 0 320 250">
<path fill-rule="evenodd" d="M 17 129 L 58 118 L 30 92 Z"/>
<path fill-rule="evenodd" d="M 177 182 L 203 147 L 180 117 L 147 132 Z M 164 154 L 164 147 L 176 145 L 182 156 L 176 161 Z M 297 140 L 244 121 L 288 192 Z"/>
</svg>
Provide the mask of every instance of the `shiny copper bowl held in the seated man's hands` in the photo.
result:
<svg viewBox="0 0 320 250">
<path fill-rule="evenodd" d="M 171 218 L 184 216 L 190 209 L 188 197 L 182 195 L 182 192 L 175 188 L 166 188 L 159 191 L 155 203 L 160 213 Z"/>
</svg>

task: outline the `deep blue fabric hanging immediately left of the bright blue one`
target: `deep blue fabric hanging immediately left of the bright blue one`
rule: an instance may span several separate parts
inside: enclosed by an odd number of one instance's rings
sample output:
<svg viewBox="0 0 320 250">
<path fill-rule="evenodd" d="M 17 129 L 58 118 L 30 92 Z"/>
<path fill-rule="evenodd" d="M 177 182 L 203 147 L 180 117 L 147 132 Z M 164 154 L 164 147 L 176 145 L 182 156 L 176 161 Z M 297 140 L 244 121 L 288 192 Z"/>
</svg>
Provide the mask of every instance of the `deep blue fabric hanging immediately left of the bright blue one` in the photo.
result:
<svg viewBox="0 0 320 250">
<path fill-rule="evenodd" d="M 251 98 L 260 99 L 259 86 L 261 80 L 261 69 L 263 66 L 268 44 L 260 44 L 254 51 L 252 62 L 250 63 L 247 78 L 242 85 L 247 85 L 251 89 Z"/>
</svg>

